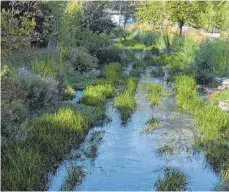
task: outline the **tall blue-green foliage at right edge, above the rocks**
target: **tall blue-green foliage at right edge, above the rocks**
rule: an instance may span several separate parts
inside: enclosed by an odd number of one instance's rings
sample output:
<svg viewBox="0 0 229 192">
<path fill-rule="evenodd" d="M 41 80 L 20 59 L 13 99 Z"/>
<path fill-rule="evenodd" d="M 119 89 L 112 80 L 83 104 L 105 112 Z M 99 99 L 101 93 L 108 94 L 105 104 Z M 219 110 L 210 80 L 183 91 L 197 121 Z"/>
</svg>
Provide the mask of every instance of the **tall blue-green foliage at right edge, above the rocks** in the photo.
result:
<svg viewBox="0 0 229 192">
<path fill-rule="evenodd" d="M 215 40 L 202 43 L 195 57 L 196 73 L 200 76 L 213 74 L 219 77 L 229 77 L 228 50 L 227 41 Z"/>
</svg>

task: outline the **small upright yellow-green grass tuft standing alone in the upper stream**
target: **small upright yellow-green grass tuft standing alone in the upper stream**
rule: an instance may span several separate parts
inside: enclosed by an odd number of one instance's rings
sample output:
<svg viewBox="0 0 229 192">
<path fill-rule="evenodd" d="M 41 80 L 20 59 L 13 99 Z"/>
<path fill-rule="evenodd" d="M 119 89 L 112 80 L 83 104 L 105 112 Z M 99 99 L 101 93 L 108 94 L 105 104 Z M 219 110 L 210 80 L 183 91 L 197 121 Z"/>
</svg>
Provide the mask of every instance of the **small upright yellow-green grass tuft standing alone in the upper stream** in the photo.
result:
<svg viewBox="0 0 229 192">
<path fill-rule="evenodd" d="M 151 83 L 148 89 L 148 97 L 150 106 L 155 106 L 159 103 L 162 96 L 162 86 L 160 84 Z"/>
</svg>

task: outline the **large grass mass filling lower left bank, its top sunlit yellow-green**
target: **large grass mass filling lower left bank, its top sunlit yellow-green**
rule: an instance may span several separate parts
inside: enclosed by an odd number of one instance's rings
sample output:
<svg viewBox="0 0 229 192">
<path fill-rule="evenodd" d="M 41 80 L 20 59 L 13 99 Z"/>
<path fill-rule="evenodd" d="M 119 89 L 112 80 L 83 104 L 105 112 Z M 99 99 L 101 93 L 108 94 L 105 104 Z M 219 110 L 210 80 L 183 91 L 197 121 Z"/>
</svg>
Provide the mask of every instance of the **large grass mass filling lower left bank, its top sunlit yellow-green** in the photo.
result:
<svg viewBox="0 0 229 192">
<path fill-rule="evenodd" d="M 70 108 L 29 122 L 23 141 L 3 149 L 2 189 L 44 190 L 48 172 L 83 140 L 88 128 L 88 119 Z"/>
</svg>

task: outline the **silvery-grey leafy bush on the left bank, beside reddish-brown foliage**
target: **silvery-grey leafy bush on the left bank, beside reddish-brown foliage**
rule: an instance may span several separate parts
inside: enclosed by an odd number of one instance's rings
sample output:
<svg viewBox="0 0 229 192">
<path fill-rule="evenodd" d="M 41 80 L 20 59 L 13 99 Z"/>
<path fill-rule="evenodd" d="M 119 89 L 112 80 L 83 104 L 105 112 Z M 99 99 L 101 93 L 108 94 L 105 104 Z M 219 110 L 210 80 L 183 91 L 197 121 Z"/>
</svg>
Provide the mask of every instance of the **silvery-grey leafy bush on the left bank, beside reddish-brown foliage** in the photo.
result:
<svg viewBox="0 0 229 192">
<path fill-rule="evenodd" d="M 45 104 L 51 101 L 58 91 L 58 82 L 52 77 L 41 78 L 25 68 L 20 68 L 15 81 L 28 92 L 31 104 Z"/>
</svg>

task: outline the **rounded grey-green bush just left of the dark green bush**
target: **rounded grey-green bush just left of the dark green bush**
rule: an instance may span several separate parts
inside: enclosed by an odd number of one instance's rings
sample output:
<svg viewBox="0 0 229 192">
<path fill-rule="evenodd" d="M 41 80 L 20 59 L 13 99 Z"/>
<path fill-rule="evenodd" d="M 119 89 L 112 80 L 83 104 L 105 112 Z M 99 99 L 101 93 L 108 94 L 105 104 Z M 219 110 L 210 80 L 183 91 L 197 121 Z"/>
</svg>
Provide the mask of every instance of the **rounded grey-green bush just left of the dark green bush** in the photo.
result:
<svg viewBox="0 0 229 192">
<path fill-rule="evenodd" d="M 97 67 L 98 60 L 95 56 L 90 55 L 86 49 L 77 47 L 71 50 L 70 62 L 75 70 L 83 72 Z"/>
</svg>

